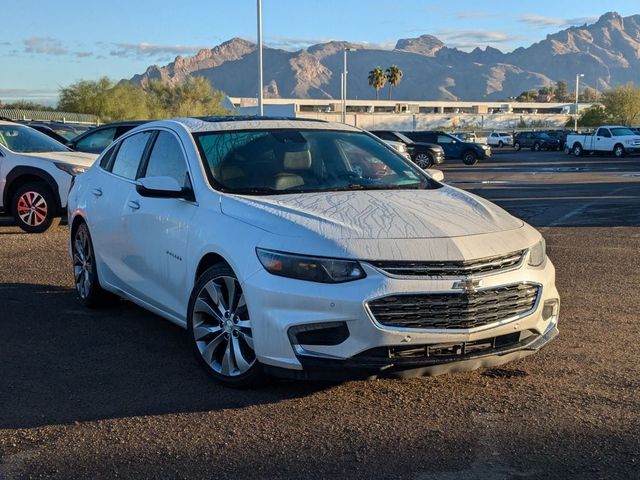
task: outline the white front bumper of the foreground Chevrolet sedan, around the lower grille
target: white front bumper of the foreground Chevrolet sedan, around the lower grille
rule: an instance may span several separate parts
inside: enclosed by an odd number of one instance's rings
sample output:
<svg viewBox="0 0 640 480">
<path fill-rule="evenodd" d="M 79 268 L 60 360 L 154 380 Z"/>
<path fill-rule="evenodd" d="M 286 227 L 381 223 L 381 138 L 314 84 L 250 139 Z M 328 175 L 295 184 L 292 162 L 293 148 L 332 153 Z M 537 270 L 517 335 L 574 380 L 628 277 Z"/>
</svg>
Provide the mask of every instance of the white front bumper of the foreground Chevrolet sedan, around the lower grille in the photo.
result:
<svg viewBox="0 0 640 480">
<path fill-rule="evenodd" d="M 348 377 L 433 375 L 521 358 L 541 348 L 557 333 L 557 313 L 546 319 L 542 314 L 545 302 L 555 300 L 559 306 L 555 269 L 549 260 L 542 267 L 530 267 L 524 262 L 514 270 L 483 277 L 485 288 L 520 282 L 538 284 L 539 297 L 525 316 L 468 329 L 398 328 L 378 323 L 367 308 L 372 299 L 460 290 L 453 290 L 454 279 L 396 278 L 367 263 L 362 265 L 366 278 L 335 285 L 275 277 L 264 270 L 246 279 L 243 290 L 258 360 L 274 373 L 294 377 L 318 378 L 322 372 L 328 378 L 339 378 L 339 373 L 347 373 Z M 337 344 L 301 345 L 289 335 L 292 327 L 324 323 L 346 325 L 348 337 Z M 477 348 L 487 339 L 500 340 L 492 348 Z M 467 351 L 467 345 L 473 346 L 471 351 Z M 420 349 L 426 346 L 440 353 L 421 355 Z M 444 346 L 459 348 L 447 355 L 446 349 L 442 350 Z M 400 355 L 385 355 L 385 351 Z"/>
</svg>

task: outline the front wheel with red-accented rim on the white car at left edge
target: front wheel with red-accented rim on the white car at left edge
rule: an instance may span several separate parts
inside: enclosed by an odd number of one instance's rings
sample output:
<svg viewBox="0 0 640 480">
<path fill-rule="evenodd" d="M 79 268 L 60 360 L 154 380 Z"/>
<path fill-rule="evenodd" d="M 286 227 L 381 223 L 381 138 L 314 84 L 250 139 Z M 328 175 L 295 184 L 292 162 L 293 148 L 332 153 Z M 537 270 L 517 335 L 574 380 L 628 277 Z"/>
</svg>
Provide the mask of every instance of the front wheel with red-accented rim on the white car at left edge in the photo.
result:
<svg viewBox="0 0 640 480">
<path fill-rule="evenodd" d="M 60 224 L 55 197 L 44 182 L 19 187 L 11 199 L 11 212 L 18 226 L 27 233 L 43 233 Z"/>
</svg>

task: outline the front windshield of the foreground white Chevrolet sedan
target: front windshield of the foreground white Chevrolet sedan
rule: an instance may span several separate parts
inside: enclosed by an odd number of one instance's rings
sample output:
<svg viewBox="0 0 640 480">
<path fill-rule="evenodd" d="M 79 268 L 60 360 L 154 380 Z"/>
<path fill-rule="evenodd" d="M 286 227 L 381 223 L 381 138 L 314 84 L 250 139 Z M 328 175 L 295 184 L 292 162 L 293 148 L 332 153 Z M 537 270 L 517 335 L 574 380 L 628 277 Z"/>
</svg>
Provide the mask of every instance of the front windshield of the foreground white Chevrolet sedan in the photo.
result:
<svg viewBox="0 0 640 480">
<path fill-rule="evenodd" d="M 194 134 L 216 188 L 247 195 L 431 188 L 429 177 L 360 132 L 253 130 Z"/>
</svg>

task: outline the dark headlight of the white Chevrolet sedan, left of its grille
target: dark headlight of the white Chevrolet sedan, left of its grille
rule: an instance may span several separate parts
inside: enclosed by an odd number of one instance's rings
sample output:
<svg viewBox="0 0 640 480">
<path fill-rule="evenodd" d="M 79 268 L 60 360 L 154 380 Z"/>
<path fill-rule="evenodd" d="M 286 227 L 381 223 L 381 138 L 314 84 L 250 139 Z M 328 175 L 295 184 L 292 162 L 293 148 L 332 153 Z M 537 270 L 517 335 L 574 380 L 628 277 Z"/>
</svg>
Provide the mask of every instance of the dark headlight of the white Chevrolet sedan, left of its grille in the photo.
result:
<svg viewBox="0 0 640 480">
<path fill-rule="evenodd" d="M 366 277 L 360 264 L 354 260 L 308 257 L 261 248 L 256 248 L 256 253 L 267 272 L 281 277 L 320 283 L 350 282 Z"/>
</svg>

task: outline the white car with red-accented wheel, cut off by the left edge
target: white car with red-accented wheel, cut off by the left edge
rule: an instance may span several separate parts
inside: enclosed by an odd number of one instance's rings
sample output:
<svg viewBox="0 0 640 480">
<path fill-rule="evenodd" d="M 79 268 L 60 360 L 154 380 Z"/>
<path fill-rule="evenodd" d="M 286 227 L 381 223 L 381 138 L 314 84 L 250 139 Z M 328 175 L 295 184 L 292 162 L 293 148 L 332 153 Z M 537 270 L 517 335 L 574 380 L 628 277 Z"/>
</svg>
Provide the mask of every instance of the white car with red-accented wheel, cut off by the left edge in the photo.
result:
<svg viewBox="0 0 640 480">
<path fill-rule="evenodd" d="M 72 178 L 96 158 L 31 127 L 0 121 L 0 210 L 24 231 L 44 232 L 66 213 Z"/>
</svg>

